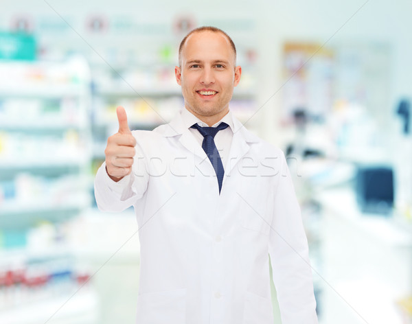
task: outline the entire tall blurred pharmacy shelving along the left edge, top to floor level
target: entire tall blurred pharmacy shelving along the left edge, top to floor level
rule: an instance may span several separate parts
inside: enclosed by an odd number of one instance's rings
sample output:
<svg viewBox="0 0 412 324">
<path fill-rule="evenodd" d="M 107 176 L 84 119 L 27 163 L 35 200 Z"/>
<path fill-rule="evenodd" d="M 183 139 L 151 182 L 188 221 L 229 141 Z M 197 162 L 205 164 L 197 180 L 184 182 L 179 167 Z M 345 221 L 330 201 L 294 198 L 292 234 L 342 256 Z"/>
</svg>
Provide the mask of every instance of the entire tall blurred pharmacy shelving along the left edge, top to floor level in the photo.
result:
<svg viewBox="0 0 412 324">
<path fill-rule="evenodd" d="M 66 243 L 92 202 L 90 78 L 80 57 L 0 63 L 0 323 L 96 323 Z"/>
</svg>

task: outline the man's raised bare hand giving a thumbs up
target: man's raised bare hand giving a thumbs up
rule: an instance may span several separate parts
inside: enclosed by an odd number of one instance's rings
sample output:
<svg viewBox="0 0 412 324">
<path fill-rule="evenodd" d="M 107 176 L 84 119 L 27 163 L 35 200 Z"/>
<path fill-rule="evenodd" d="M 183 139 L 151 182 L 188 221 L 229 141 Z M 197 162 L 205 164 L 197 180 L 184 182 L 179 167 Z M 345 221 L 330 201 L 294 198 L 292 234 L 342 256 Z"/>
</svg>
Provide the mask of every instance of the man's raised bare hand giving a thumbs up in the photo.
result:
<svg viewBox="0 0 412 324">
<path fill-rule="evenodd" d="M 116 109 L 119 131 L 108 137 L 106 150 L 106 172 L 113 181 L 119 181 L 132 171 L 136 139 L 127 124 L 126 111 L 122 106 Z"/>
</svg>

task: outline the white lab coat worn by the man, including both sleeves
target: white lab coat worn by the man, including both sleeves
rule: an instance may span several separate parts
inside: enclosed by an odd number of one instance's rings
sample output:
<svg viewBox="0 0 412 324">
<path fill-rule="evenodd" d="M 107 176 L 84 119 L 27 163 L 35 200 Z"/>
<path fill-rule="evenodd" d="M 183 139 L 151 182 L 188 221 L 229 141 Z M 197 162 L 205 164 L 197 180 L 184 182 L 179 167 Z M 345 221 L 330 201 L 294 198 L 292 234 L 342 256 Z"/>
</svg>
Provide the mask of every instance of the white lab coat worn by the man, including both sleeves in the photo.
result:
<svg viewBox="0 0 412 324">
<path fill-rule="evenodd" d="M 308 242 L 284 154 L 233 117 L 222 191 L 180 113 L 135 130 L 133 172 L 118 183 L 103 163 L 102 211 L 135 207 L 138 324 L 272 324 L 269 254 L 283 324 L 317 323 Z"/>
</svg>

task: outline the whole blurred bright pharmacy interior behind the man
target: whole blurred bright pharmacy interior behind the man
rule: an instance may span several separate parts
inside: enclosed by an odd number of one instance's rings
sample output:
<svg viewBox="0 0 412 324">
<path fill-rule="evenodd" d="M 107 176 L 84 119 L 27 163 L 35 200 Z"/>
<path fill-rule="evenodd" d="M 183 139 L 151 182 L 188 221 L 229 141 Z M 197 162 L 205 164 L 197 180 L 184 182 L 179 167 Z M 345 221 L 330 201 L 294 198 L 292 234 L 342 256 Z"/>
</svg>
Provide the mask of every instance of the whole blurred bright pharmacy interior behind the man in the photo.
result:
<svg viewBox="0 0 412 324">
<path fill-rule="evenodd" d="M 117 105 L 147 130 L 183 107 L 177 48 L 201 25 L 236 43 L 231 110 L 287 154 L 319 322 L 412 323 L 411 1 L 0 8 L 0 323 L 135 322 L 137 222 L 98 211 L 93 178 Z"/>
</svg>

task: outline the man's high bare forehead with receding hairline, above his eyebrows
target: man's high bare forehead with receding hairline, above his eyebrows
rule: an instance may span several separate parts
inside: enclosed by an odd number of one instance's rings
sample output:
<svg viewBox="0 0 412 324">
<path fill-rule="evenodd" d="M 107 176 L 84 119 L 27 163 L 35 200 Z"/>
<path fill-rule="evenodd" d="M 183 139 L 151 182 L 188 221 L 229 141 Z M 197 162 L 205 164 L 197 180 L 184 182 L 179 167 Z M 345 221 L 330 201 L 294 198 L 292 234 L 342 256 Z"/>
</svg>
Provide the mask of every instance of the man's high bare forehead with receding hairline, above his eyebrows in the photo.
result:
<svg viewBox="0 0 412 324">
<path fill-rule="evenodd" d="M 187 37 L 182 49 L 183 64 L 189 60 L 227 60 L 234 59 L 233 49 L 225 35 L 219 32 L 195 32 Z"/>
</svg>

